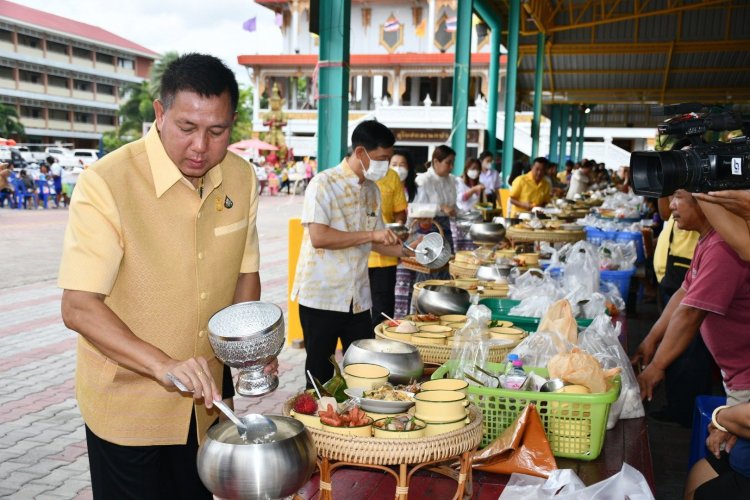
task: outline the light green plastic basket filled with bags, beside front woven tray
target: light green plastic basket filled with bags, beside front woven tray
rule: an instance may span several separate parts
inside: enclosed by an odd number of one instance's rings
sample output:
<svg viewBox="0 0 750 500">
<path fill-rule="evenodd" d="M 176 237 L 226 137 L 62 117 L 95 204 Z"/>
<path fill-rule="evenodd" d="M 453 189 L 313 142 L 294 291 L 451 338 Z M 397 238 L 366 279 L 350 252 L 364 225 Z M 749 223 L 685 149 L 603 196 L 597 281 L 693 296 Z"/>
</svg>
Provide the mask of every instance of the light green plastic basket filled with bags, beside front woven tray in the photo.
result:
<svg viewBox="0 0 750 500">
<path fill-rule="evenodd" d="M 443 364 L 432 374 L 432 379 L 444 378 L 455 363 Z M 505 365 L 487 363 L 487 366 L 500 372 Z M 526 371 L 547 376 L 545 368 L 527 367 Z M 534 403 L 555 456 L 594 460 L 602 452 L 609 408 L 620 395 L 620 377 L 615 377 L 612 388 L 602 394 L 515 391 L 472 385 L 468 391 L 469 399 L 484 416 L 482 446 L 490 444 L 510 427 L 526 405 Z"/>
</svg>

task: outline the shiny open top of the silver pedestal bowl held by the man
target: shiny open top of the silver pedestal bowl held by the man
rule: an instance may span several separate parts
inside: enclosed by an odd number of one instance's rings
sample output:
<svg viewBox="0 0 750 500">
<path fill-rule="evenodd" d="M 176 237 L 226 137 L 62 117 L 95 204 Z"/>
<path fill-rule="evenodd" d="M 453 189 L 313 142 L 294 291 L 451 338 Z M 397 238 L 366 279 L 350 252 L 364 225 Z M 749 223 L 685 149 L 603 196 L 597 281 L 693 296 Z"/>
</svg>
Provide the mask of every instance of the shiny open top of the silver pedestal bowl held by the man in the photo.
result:
<svg viewBox="0 0 750 500">
<path fill-rule="evenodd" d="M 208 321 L 208 331 L 223 340 L 243 340 L 278 328 L 284 314 L 269 302 L 242 302 L 225 307 Z"/>
</svg>

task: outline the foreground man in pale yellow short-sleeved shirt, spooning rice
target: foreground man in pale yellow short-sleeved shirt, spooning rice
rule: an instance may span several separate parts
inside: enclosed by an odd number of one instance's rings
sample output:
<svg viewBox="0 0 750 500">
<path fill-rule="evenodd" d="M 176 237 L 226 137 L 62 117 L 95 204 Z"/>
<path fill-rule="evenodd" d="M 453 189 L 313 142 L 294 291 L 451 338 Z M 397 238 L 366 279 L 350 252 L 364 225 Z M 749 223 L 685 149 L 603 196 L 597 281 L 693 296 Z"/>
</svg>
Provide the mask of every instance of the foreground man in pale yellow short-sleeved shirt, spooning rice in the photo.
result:
<svg viewBox="0 0 750 500">
<path fill-rule="evenodd" d="M 63 321 L 80 334 L 76 397 L 95 498 L 212 498 L 196 453 L 231 377 L 208 320 L 260 298 L 258 181 L 227 153 L 238 100 L 219 59 L 176 59 L 154 127 L 74 191 L 58 284 Z"/>
</svg>

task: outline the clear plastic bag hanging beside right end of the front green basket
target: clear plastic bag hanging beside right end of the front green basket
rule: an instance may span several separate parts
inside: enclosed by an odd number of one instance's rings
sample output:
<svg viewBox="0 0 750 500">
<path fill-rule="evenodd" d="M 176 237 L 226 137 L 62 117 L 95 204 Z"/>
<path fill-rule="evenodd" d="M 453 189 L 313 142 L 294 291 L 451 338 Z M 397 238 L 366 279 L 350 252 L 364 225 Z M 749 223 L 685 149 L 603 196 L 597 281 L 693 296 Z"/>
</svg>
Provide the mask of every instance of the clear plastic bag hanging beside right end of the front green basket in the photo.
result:
<svg viewBox="0 0 750 500">
<path fill-rule="evenodd" d="M 606 315 L 598 316 L 579 335 L 579 346 L 601 363 L 604 369 L 619 367 L 622 389 L 609 410 L 607 429 L 612 429 L 620 418 L 640 418 L 645 415 L 638 379 L 633 372 L 628 355 L 618 339 L 620 323 L 612 325 Z"/>
</svg>

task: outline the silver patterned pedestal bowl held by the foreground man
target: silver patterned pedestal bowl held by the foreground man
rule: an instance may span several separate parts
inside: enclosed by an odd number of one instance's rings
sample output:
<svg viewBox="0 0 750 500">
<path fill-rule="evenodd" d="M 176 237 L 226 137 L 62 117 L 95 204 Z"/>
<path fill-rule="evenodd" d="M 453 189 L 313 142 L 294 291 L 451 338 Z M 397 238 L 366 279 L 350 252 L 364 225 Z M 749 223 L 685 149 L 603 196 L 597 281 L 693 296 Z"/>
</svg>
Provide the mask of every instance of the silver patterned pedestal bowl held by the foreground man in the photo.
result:
<svg viewBox="0 0 750 500">
<path fill-rule="evenodd" d="M 234 304 L 208 321 L 208 338 L 216 357 L 239 369 L 237 393 L 262 396 L 276 389 L 276 375 L 264 373 L 284 346 L 284 314 L 267 302 Z"/>
</svg>

